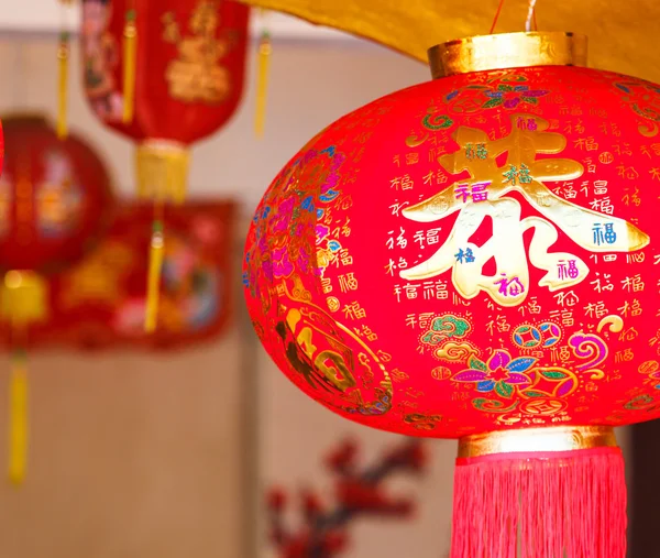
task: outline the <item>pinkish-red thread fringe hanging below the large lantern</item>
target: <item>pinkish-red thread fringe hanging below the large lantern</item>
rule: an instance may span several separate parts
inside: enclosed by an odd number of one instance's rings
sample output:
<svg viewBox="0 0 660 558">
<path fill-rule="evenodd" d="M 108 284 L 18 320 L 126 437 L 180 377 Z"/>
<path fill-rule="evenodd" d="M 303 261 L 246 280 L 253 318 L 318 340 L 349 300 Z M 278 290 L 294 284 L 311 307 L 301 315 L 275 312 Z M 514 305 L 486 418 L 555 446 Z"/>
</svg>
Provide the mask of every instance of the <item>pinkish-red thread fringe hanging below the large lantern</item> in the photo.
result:
<svg viewBox="0 0 660 558">
<path fill-rule="evenodd" d="M 451 558 L 625 558 L 619 448 L 458 459 Z"/>
</svg>

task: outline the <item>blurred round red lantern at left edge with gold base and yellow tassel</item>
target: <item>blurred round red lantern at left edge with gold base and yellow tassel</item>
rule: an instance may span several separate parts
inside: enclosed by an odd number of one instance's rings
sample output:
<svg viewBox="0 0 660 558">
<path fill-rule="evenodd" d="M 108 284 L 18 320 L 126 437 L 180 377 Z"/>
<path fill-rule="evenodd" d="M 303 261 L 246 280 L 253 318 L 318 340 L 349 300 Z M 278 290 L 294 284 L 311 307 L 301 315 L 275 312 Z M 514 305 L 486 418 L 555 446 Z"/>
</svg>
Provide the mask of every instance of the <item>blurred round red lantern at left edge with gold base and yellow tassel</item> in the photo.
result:
<svg viewBox="0 0 660 558">
<path fill-rule="evenodd" d="M 32 324 L 48 311 L 41 274 L 75 263 L 109 225 L 108 172 L 82 140 L 59 140 L 41 117 L 3 119 L 7 138 L 0 177 L 0 314 L 12 333 L 9 474 L 21 482 L 26 464 L 25 349 Z"/>
</svg>

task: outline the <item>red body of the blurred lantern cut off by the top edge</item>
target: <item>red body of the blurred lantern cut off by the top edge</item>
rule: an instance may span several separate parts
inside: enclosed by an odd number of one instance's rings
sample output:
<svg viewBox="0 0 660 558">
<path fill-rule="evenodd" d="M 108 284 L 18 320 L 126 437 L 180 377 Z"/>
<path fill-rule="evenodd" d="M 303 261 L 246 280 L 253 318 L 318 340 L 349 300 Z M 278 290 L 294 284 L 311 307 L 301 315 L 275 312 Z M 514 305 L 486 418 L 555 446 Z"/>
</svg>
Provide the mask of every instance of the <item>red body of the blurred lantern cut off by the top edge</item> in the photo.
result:
<svg viewBox="0 0 660 558">
<path fill-rule="evenodd" d="M 132 8 L 138 28 L 135 117 L 125 125 L 122 44 Z M 249 8 L 231 0 L 84 0 L 81 62 L 92 110 L 136 141 L 189 144 L 215 132 L 241 99 L 248 17 Z M 217 98 L 184 99 L 173 95 L 170 73 L 179 84 L 187 80 L 191 91 L 208 94 L 209 80 L 221 90 Z"/>
</svg>

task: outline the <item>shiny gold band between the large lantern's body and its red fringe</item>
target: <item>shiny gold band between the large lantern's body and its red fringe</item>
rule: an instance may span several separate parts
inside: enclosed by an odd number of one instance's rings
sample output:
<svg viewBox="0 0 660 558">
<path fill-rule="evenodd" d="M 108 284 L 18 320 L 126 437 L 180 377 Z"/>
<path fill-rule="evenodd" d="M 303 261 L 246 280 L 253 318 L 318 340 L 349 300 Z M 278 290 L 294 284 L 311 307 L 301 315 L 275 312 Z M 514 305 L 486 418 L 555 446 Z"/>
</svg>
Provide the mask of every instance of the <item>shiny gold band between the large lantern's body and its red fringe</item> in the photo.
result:
<svg viewBox="0 0 660 558">
<path fill-rule="evenodd" d="M 608 426 L 553 426 L 475 434 L 459 440 L 459 458 L 495 453 L 572 451 L 616 448 L 614 429 Z"/>
</svg>

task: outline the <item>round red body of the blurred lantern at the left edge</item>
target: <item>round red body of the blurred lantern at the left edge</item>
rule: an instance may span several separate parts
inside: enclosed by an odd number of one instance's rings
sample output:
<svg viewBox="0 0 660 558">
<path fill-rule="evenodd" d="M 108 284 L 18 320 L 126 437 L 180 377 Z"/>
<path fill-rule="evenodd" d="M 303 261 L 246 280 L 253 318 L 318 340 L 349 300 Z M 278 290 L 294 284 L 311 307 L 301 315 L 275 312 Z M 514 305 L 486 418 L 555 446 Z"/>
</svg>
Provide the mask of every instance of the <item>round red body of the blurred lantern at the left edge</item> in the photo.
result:
<svg viewBox="0 0 660 558">
<path fill-rule="evenodd" d="M 105 163 L 80 138 L 57 139 L 41 117 L 4 119 L 0 271 L 51 273 L 79 260 L 109 225 Z"/>
</svg>

